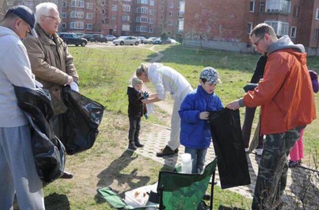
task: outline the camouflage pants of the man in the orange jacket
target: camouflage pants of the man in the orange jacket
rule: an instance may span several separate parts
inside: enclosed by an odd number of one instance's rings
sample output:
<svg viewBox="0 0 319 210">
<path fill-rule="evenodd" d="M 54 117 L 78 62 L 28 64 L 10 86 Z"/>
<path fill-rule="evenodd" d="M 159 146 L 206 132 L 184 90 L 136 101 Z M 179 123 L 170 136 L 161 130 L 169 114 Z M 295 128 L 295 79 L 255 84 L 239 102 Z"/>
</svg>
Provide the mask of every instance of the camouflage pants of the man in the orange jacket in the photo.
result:
<svg viewBox="0 0 319 210">
<path fill-rule="evenodd" d="M 280 197 L 287 184 L 287 157 L 295 142 L 299 139 L 304 126 L 288 130 L 285 133 L 266 135 L 263 155 L 259 163 L 255 187 L 253 210 L 278 209 Z"/>
</svg>

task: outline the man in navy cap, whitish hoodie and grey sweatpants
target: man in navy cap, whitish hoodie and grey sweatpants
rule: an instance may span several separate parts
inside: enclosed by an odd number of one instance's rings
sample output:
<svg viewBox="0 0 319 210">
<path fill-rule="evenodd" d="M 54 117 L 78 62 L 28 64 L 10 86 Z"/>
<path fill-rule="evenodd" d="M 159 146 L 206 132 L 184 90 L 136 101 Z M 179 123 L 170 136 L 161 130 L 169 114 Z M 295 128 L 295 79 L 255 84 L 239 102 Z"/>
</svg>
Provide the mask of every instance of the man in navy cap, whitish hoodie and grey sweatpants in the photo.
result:
<svg viewBox="0 0 319 210">
<path fill-rule="evenodd" d="M 20 209 L 45 209 L 29 125 L 17 105 L 13 88 L 35 88 L 27 52 L 20 40 L 31 32 L 34 22 L 33 12 L 25 6 L 8 9 L 0 22 L 0 210 L 13 209 L 14 193 Z"/>
</svg>

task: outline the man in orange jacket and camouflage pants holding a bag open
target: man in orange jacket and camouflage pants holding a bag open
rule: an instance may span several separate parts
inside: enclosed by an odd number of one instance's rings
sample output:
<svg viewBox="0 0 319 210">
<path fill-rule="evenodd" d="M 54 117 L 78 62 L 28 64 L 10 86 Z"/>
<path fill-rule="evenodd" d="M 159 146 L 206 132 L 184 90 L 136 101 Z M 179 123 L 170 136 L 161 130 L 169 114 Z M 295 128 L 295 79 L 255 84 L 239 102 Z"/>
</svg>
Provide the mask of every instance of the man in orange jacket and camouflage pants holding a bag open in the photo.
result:
<svg viewBox="0 0 319 210">
<path fill-rule="evenodd" d="M 316 118 L 316 105 L 304 46 L 287 35 L 278 39 L 265 23 L 252 30 L 250 39 L 256 51 L 267 53 L 264 78 L 258 88 L 226 107 L 261 106 L 261 134 L 266 140 L 252 209 L 272 209 L 280 205 L 286 187 L 290 149 L 301 129 Z"/>
</svg>

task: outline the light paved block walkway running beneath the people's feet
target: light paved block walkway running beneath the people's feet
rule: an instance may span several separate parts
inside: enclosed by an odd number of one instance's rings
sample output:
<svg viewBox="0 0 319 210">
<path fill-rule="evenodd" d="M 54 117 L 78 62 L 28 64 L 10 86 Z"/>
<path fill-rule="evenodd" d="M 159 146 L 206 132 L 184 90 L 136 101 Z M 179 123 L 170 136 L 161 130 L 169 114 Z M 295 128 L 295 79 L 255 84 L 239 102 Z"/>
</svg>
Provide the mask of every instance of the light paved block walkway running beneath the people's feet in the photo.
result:
<svg viewBox="0 0 319 210">
<path fill-rule="evenodd" d="M 141 142 L 145 144 L 145 147 L 141 149 L 139 148 L 138 150 L 136 150 L 136 152 L 140 155 L 151 158 L 167 166 L 174 167 L 175 165 L 180 164 L 181 163 L 180 155 L 184 153 L 183 146 L 179 147 L 178 155 L 171 155 L 164 158 L 160 158 L 156 156 L 156 152 L 159 150 L 159 148 L 163 148 L 166 145 L 167 141 L 169 140 L 169 133 L 170 133 L 169 128 L 165 128 L 163 126 L 159 126 L 159 125 L 153 125 L 151 127 L 143 126 L 141 128 L 140 139 L 141 139 Z M 213 160 L 214 157 L 215 157 L 215 153 L 214 153 L 213 146 L 211 144 L 211 146 L 209 147 L 207 151 L 205 164 L 208 164 L 208 162 Z M 233 192 L 239 193 L 245 197 L 252 199 L 254 194 L 257 174 L 258 174 L 258 163 L 259 163 L 260 157 L 251 153 L 249 155 L 247 154 L 247 160 L 248 160 L 251 184 L 247 186 L 230 188 L 228 190 L 231 190 Z M 296 209 L 296 208 L 293 208 L 293 206 L 295 206 L 298 200 L 296 199 L 294 192 L 296 193 L 302 192 L 302 188 L 305 186 L 305 183 L 304 183 L 305 177 L 307 177 L 305 169 L 302 169 L 302 168 L 295 168 L 292 170 L 289 169 L 288 182 L 287 182 L 286 193 L 285 193 L 286 195 L 283 197 L 283 200 L 286 203 L 284 209 L 287 209 L 287 210 Z M 215 180 L 220 186 L 218 170 L 216 170 Z M 319 180 L 317 180 L 317 183 L 316 183 L 317 189 L 319 187 L 318 181 Z M 316 204 L 315 204 L 316 206 L 311 205 L 314 208 L 306 208 L 306 209 L 318 210 L 319 203 L 316 203 Z"/>
</svg>

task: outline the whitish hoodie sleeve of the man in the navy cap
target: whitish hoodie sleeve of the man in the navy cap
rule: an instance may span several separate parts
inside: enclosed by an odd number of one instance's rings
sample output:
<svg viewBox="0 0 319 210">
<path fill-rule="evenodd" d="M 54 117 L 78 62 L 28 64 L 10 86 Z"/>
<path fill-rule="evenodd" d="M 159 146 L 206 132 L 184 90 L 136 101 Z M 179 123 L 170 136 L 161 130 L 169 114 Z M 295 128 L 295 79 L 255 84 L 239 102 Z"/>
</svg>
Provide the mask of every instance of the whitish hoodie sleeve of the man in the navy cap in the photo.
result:
<svg viewBox="0 0 319 210">
<path fill-rule="evenodd" d="M 29 89 L 35 88 L 34 75 L 22 43 L 8 48 L 2 58 L 1 66 L 3 73 L 13 85 Z"/>
</svg>

